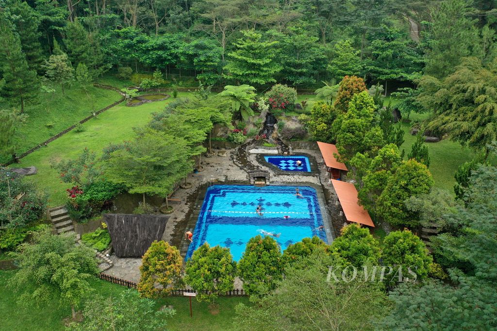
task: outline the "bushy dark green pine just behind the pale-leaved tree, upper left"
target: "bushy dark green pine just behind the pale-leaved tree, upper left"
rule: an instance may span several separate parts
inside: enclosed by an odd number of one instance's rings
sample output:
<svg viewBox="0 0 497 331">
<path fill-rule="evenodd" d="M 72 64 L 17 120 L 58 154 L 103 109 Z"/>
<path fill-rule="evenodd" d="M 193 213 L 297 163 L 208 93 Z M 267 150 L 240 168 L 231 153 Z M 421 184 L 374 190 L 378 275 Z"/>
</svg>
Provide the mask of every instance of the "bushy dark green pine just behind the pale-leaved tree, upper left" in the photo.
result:
<svg viewBox="0 0 497 331">
<path fill-rule="evenodd" d="M 71 60 L 73 66 L 77 66 L 79 63 L 84 63 L 87 67 L 93 66 L 88 33 L 78 19 L 67 24 L 64 42 L 66 43 L 69 60 Z"/>
</svg>

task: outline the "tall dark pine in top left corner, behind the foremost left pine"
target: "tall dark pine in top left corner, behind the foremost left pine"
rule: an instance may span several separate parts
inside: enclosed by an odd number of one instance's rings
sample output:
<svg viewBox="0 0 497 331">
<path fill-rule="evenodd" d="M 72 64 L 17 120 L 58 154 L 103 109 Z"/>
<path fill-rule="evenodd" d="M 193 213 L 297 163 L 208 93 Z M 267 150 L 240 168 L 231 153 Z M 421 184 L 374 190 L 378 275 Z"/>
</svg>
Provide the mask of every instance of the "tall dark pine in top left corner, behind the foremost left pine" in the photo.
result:
<svg viewBox="0 0 497 331">
<path fill-rule="evenodd" d="M 22 52 L 26 55 L 26 61 L 30 69 L 41 73 L 43 55 L 39 41 L 38 32 L 39 16 L 25 1 L 9 1 L 10 21 L 15 26 L 15 32 L 19 35 Z"/>
</svg>

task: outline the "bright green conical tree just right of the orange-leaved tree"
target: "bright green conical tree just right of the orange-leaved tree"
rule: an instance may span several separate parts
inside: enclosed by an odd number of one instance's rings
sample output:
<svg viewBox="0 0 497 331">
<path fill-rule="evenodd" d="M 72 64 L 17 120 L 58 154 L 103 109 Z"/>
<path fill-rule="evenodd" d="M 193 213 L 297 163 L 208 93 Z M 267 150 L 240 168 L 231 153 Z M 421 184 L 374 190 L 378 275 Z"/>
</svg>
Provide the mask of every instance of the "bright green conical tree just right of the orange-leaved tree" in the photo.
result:
<svg viewBox="0 0 497 331">
<path fill-rule="evenodd" d="M 375 110 L 373 98 L 363 91 L 352 97 L 346 113 L 338 114 L 332 131 L 336 134 L 336 148 L 343 160 L 348 161 L 357 152 L 376 150 L 385 144 L 383 132 L 374 125 Z"/>
</svg>

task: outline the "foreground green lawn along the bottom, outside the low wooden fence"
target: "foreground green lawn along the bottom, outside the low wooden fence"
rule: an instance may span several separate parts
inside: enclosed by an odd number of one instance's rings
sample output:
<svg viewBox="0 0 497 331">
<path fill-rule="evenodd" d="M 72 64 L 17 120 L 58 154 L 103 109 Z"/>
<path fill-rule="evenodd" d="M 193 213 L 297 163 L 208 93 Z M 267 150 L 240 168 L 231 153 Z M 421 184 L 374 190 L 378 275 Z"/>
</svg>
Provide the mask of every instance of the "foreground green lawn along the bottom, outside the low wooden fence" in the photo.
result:
<svg viewBox="0 0 497 331">
<path fill-rule="evenodd" d="M 59 307 L 57 303 L 49 303 L 42 307 L 29 307 L 19 305 L 15 294 L 6 288 L 7 280 L 15 271 L 0 270 L 0 329 L 9 331 L 57 331 L 64 330 L 62 320 L 71 315 L 68 307 Z M 100 279 L 92 281 L 95 293 L 102 296 L 119 295 L 125 287 L 112 284 Z M 233 330 L 232 323 L 235 315 L 234 308 L 239 302 L 248 303 L 246 297 L 220 298 L 219 314 L 213 315 L 208 304 L 192 300 L 193 318 L 190 318 L 190 308 L 186 297 L 167 297 L 157 300 L 156 308 L 163 305 L 172 305 L 176 310 L 167 323 L 168 330 Z"/>
</svg>

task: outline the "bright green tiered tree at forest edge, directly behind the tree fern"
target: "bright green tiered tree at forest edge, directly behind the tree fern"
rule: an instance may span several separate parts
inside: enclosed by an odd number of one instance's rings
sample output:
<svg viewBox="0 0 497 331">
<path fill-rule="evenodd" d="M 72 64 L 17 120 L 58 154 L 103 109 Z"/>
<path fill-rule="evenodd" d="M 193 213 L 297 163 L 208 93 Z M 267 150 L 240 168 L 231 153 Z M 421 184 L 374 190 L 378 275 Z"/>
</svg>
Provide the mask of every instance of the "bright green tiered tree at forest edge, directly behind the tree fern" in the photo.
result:
<svg viewBox="0 0 497 331">
<path fill-rule="evenodd" d="M 248 81 L 251 84 L 275 82 L 274 76 L 283 68 L 276 62 L 276 41 L 262 41 L 262 35 L 253 30 L 242 31 L 244 38 L 233 43 L 224 69 L 226 78 Z"/>
</svg>

